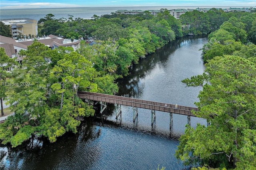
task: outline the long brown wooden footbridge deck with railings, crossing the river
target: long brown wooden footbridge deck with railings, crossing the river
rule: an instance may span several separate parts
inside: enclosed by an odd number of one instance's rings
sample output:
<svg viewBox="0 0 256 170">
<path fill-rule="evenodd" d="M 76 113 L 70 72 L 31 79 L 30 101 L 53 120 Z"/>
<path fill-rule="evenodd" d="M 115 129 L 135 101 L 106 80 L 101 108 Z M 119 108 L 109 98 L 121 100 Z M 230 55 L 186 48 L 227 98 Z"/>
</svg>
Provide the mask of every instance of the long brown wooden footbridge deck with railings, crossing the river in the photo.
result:
<svg viewBox="0 0 256 170">
<path fill-rule="evenodd" d="M 194 116 L 192 114 L 192 110 L 198 111 L 198 108 L 196 107 L 188 107 L 188 106 L 179 106 L 175 108 L 175 104 L 165 104 L 160 102 L 152 102 L 148 100 L 140 100 L 140 99 L 134 99 L 134 98 L 127 98 L 122 96 L 114 96 L 114 95 L 108 95 L 108 94 L 100 94 L 100 93 L 94 93 L 94 92 L 81 92 L 79 91 L 77 96 L 81 99 L 88 99 L 98 102 L 106 102 L 111 104 L 120 104 L 124 106 L 133 106 L 138 108 L 144 108 L 144 109 L 151 109 L 156 111 L 164 111 L 168 113 L 176 113 L 180 115 L 188 115 L 188 116 Z M 167 105 L 167 106 L 166 106 Z"/>
</svg>

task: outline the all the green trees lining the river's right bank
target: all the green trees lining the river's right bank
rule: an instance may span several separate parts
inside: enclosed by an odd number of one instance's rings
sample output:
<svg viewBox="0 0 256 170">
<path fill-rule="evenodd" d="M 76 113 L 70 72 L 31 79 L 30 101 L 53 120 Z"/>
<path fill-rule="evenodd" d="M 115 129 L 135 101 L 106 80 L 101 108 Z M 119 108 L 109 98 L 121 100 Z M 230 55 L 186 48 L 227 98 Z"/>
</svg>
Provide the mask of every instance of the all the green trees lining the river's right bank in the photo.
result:
<svg viewBox="0 0 256 170">
<path fill-rule="evenodd" d="M 183 80 L 187 86 L 203 87 L 194 114 L 209 125 L 187 126 L 176 157 L 186 164 L 255 169 L 255 14 L 227 15 L 229 20 L 210 33 L 202 48 L 205 73 Z"/>
</svg>

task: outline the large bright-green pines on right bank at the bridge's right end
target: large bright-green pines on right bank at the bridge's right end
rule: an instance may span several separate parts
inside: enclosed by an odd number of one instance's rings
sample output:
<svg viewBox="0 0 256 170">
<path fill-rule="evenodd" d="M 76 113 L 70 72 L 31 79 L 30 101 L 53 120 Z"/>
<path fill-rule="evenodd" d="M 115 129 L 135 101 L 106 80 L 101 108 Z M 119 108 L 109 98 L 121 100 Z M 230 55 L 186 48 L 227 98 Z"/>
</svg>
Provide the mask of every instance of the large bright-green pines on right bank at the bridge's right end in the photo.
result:
<svg viewBox="0 0 256 170">
<path fill-rule="evenodd" d="M 256 168 L 256 63 L 225 55 L 206 64 L 206 73 L 183 80 L 202 86 L 199 111 L 207 127 L 187 126 L 176 157 L 187 163 L 240 169 Z"/>
</svg>

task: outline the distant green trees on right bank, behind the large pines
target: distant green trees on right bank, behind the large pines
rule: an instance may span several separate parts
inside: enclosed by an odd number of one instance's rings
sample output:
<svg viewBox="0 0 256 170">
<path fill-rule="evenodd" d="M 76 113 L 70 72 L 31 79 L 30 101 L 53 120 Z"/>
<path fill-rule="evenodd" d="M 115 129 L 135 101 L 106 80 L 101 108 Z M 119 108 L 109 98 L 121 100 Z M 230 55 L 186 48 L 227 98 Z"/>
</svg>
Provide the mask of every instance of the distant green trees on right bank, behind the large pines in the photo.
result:
<svg viewBox="0 0 256 170">
<path fill-rule="evenodd" d="M 255 15 L 250 15 L 255 18 Z M 220 29 L 210 33 L 208 36 L 209 42 L 202 48 L 202 59 L 205 63 L 216 56 L 237 55 L 244 58 L 255 57 L 255 46 L 253 34 L 253 19 L 247 16 L 245 19 L 238 19 L 232 16 L 228 21 L 225 21 Z M 248 39 L 246 30 L 248 31 Z M 249 43 L 246 43 L 251 41 Z"/>
</svg>

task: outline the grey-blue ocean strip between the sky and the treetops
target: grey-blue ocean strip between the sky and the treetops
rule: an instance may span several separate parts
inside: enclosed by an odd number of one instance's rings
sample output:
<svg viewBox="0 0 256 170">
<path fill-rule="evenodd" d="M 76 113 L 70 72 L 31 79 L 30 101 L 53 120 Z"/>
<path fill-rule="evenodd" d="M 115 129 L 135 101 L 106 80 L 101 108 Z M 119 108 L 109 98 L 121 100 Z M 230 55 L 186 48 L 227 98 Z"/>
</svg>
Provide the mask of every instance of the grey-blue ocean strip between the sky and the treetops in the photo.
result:
<svg viewBox="0 0 256 170">
<path fill-rule="evenodd" d="M 80 7 L 80 8 L 31 8 L 31 9 L 1 9 L 0 19 L 30 18 L 40 20 L 47 14 L 53 14 L 55 19 L 75 18 L 89 19 L 93 15 L 111 14 L 117 10 L 160 10 L 196 9 L 196 8 L 250 8 L 250 6 L 133 6 L 133 7 Z"/>
</svg>

